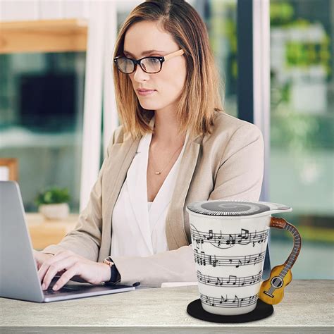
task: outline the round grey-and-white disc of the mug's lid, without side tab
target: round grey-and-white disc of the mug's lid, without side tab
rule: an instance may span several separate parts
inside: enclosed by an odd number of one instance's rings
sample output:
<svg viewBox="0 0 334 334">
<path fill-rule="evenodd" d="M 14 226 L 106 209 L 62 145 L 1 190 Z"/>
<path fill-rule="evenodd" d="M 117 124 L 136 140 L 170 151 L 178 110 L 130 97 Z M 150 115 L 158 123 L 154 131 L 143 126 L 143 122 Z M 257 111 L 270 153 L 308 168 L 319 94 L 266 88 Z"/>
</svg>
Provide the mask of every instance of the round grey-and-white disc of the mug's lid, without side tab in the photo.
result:
<svg viewBox="0 0 334 334">
<path fill-rule="evenodd" d="M 207 216 L 254 216 L 271 208 L 259 202 L 243 201 L 204 201 L 187 205 L 187 209 Z"/>
</svg>

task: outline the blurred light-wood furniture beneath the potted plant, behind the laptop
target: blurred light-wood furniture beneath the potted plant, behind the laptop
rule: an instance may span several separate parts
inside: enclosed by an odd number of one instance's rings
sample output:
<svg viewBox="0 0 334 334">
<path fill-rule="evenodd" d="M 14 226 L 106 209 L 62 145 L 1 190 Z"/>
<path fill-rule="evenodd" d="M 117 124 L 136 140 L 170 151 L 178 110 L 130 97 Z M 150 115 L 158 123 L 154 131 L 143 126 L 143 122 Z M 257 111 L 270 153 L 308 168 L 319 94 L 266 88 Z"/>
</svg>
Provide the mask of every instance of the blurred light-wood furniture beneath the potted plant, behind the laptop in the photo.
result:
<svg viewBox="0 0 334 334">
<path fill-rule="evenodd" d="M 57 221 L 44 218 L 42 214 L 25 214 L 29 228 L 32 247 L 40 250 L 58 242 L 70 230 L 73 230 L 78 221 L 78 214 L 70 214 L 67 219 Z"/>
</svg>

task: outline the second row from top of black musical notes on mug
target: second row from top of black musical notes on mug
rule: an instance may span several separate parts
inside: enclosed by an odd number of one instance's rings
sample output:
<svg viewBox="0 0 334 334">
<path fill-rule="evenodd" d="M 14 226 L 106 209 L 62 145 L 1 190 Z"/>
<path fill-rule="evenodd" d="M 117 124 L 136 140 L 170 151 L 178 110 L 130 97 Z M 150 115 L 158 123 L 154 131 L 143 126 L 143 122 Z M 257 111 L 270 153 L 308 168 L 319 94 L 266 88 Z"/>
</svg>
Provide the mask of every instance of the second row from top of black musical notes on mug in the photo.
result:
<svg viewBox="0 0 334 334">
<path fill-rule="evenodd" d="M 200 254 L 197 249 L 194 249 L 194 261 L 195 263 L 206 266 L 235 266 L 239 268 L 240 266 L 248 266 L 251 264 L 259 264 L 264 260 L 266 252 L 261 252 L 259 254 L 251 254 L 245 256 L 217 256 L 217 255 L 206 255 L 205 252 L 201 251 Z"/>
</svg>

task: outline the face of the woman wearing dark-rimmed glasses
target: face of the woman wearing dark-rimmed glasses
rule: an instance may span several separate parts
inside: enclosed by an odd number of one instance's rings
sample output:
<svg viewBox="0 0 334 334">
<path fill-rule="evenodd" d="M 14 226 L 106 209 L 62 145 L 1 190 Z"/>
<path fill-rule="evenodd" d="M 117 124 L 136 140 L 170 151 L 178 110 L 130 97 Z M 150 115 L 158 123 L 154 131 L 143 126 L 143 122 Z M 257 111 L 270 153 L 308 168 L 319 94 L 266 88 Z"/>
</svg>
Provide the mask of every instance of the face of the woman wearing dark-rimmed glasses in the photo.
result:
<svg viewBox="0 0 334 334">
<path fill-rule="evenodd" d="M 179 49 L 173 37 L 168 32 L 161 31 L 156 22 L 135 23 L 125 34 L 124 54 L 129 58 L 166 56 Z M 144 54 L 148 50 L 156 51 Z M 176 111 L 176 102 L 185 85 L 185 57 L 175 56 L 175 58 L 164 61 L 161 71 L 154 74 L 144 72 L 137 65 L 135 72 L 129 74 L 129 77 L 142 108 L 173 113 Z M 140 95 L 137 89 L 154 89 L 154 92 Z"/>
</svg>

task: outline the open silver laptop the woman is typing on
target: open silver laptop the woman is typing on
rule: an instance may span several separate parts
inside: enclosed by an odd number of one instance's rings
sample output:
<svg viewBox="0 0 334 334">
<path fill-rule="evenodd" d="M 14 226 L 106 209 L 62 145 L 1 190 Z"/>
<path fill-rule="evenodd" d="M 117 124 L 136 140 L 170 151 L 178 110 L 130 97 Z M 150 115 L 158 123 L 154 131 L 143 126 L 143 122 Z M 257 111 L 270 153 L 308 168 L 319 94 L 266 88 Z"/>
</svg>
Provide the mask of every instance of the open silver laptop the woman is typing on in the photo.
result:
<svg viewBox="0 0 334 334">
<path fill-rule="evenodd" d="M 54 291 L 51 287 L 58 277 L 52 280 L 47 290 L 42 290 L 20 188 L 15 181 L 0 181 L 0 297 L 56 302 L 135 290 L 129 285 L 91 285 L 70 281 Z"/>
</svg>

